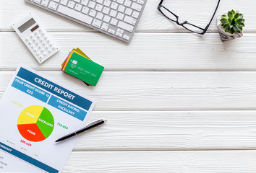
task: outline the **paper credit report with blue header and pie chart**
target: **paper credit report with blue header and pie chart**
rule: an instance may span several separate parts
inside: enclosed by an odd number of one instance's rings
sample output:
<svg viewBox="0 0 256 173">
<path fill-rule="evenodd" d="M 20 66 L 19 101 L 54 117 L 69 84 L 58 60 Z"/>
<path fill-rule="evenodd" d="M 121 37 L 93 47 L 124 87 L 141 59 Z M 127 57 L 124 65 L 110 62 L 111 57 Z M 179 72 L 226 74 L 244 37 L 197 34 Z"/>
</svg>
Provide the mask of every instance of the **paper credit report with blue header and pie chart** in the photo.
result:
<svg viewBox="0 0 256 173">
<path fill-rule="evenodd" d="M 61 172 L 95 101 L 18 66 L 0 101 L 0 172 Z"/>
</svg>

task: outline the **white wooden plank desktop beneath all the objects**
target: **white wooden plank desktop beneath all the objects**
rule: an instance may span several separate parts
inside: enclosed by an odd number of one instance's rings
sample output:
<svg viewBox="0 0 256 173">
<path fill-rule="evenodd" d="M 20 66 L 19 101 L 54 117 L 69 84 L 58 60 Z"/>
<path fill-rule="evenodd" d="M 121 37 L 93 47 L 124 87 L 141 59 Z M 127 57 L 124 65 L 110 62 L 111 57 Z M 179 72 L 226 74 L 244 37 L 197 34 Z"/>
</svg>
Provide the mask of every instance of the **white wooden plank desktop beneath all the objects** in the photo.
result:
<svg viewBox="0 0 256 173">
<path fill-rule="evenodd" d="M 23 0 L 1 0 L 0 97 L 25 63 L 97 100 L 89 122 L 108 122 L 81 136 L 64 172 L 255 173 L 256 1 L 221 0 L 217 14 L 239 9 L 246 19 L 244 36 L 229 43 L 216 19 L 200 37 L 168 22 L 158 2 L 148 0 L 127 45 Z M 41 65 L 11 29 L 28 11 L 61 48 Z M 96 87 L 60 71 L 77 47 L 105 66 Z"/>
</svg>

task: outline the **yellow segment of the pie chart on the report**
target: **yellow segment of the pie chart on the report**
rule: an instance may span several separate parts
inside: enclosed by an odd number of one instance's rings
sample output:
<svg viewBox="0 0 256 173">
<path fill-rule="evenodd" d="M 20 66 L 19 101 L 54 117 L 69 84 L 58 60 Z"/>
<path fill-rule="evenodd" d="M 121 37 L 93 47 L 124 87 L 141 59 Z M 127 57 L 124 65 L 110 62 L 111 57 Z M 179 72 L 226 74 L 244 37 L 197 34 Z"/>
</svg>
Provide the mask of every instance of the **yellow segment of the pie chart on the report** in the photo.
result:
<svg viewBox="0 0 256 173">
<path fill-rule="evenodd" d="M 22 124 L 35 124 L 38 121 L 38 118 L 43 111 L 43 107 L 39 105 L 33 105 L 27 107 L 20 113 L 18 118 L 18 125 Z"/>
</svg>

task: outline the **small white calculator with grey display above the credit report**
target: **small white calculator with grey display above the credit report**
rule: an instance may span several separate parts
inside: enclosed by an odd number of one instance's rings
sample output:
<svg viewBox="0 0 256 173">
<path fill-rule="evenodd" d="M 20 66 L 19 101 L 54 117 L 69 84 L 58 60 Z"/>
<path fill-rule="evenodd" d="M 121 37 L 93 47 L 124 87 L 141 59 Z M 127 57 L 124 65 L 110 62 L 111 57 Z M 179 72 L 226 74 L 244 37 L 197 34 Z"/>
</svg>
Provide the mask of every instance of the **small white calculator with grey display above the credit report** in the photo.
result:
<svg viewBox="0 0 256 173">
<path fill-rule="evenodd" d="M 48 32 L 41 27 L 31 12 L 14 22 L 12 27 L 39 63 L 59 51 Z"/>
</svg>

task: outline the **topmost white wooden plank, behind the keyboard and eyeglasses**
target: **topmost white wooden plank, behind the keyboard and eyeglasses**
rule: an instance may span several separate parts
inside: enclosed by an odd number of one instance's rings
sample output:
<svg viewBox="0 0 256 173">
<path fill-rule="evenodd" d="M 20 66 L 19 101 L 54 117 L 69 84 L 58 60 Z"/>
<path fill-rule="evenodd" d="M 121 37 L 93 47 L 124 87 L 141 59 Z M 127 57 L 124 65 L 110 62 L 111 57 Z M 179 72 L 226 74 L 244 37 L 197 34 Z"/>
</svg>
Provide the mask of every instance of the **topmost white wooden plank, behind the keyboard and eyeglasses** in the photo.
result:
<svg viewBox="0 0 256 173">
<path fill-rule="evenodd" d="M 215 3 L 217 0 L 183 0 L 171 1 L 171 10 L 176 12 L 180 17 L 189 20 L 200 26 L 206 26 L 208 20 L 213 14 L 215 9 Z M 142 15 L 142 19 L 137 28 L 138 32 L 187 32 L 182 27 L 169 22 L 168 19 L 163 17 L 160 12 L 156 9 L 158 6 L 158 0 L 148 0 L 148 4 L 145 8 L 145 12 Z M 64 17 L 59 17 L 51 12 L 46 12 L 31 4 L 25 3 L 25 1 L 20 0 L 4 0 L 0 2 L 0 30 L 12 30 L 11 25 L 14 20 L 25 14 L 26 12 L 33 12 L 40 19 L 42 25 L 46 27 L 47 30 L 52 31 L 91 31 L 88 27 L 78 25 L 75 22 L 70 22 Z M 189 8 L 185 9 L 186 6 Z M 244 32 L 256 32 L 256 21 L 255 21 L 255 7 L 256 1 L 244 0 L 244 1 L 232 1 L 226 0 L 221 1 L 218 12 L 216 14 L 223 14 L 231 9 L 239 9 L 240 12 L 244 14 L 246 19 Z M 189 18 L 187 18 L 189 17 Z M 217 32 L 216 18 L 213 19 L 212 25 L 208 30 L 209 32 Z M 102 35 L 101 35 L 102 36 Z"/>
</svg>

